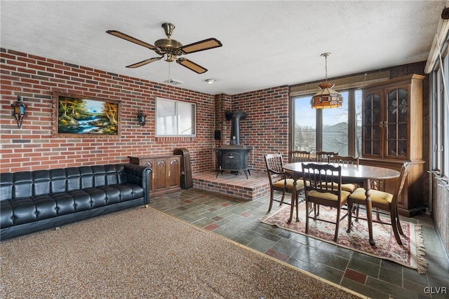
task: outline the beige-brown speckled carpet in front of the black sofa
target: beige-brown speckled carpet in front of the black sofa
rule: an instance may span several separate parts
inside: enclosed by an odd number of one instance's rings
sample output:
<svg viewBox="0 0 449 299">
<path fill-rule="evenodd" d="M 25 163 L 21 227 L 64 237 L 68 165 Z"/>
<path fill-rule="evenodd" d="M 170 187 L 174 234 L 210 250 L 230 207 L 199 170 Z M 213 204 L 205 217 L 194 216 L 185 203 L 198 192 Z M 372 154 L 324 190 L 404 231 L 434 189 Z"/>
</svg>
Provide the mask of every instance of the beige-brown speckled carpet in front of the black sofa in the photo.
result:
<svg viewBox="0 0 449 299">
<path fill-rule="evenodd" d="M 359 297 L 151 207 L 0 247 L 0 298 Z"/>
</svg>

